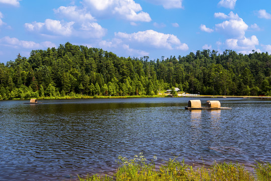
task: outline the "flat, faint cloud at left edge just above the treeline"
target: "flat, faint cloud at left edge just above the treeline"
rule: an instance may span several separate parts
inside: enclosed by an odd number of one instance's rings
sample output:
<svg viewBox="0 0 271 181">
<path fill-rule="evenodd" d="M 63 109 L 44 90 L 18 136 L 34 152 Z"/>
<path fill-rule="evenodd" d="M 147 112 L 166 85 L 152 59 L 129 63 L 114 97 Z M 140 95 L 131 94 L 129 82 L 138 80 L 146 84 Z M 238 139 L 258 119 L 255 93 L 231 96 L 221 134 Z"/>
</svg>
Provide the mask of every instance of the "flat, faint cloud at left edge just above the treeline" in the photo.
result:
<svg viewBox="0 0 271 181">
<path fill-rule="evenodd" d="M 49 41 L 36 43 L 33 41 L 24 41 L 19 40 L 18 38 L 11 38 L 6 36 L 0 39 L 0 42 L 5 46 L 10 46 L 13 48 L 26 48 L 26 49 L 40 49 L 40 48 L 48 48 L 48 47 L 56 47 L 55 44 Z"/>
</svg>

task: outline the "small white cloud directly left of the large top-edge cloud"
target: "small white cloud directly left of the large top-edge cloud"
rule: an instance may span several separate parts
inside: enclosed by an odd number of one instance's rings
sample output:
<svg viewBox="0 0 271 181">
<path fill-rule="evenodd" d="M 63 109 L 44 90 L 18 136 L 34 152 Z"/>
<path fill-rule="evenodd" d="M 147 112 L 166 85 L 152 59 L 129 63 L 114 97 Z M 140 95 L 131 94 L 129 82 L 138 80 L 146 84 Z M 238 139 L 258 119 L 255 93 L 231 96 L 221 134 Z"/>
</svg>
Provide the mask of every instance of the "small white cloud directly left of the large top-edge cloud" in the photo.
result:
<svg viewBox="0 0 271 181">
<path fill-rule="evenodd" d="M 76 6 L 70 7 L 61 6 L 58 9 L 54 10 L 54 12 L 56 14 L 67 17 L 68 19 L 75 22 L 96 21 L 91 14 L 86 12 L 86 10 L 79 10 Z"/>
</svg>

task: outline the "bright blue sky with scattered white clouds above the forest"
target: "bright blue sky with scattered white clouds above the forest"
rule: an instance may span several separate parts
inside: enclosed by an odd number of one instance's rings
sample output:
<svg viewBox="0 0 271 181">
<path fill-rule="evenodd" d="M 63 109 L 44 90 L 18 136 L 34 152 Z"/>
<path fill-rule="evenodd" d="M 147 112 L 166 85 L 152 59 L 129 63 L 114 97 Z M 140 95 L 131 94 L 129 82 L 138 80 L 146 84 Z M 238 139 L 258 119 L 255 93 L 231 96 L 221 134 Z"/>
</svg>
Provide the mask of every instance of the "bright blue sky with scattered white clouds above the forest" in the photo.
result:
<svg viewBox="0 0 271 181">
<path fill-rule="evenodd" d="M 270 0 L 0 0 L 0 62 L 74 45 L 119 57 L 271 53 Z"/>
</svg>

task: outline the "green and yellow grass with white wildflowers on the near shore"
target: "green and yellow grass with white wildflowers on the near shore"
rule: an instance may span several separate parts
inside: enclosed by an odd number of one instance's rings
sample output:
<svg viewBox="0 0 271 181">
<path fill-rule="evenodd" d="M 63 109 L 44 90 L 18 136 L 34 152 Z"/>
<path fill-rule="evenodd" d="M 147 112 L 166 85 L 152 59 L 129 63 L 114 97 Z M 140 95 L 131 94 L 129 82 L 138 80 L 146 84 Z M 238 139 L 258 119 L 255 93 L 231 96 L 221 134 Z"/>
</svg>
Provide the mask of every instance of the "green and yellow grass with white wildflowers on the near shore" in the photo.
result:
<svg viewBox="0 0 271 181">
<path fill-rule="evenodd" d="M 239 163 L 214 163 L 211 166 L 189 166 L 183 161 L 170 159 L 159 168 L 155 166 L 156 157 L 151 161 L 140 153 L 133 159 L 119 157 L 120 167 L 113 176 L 98 174 L 86 177 L 78 176 L 80 181 L 91 180 L 271 180 L 271 164 L 257 162 L 255 174 L 247 171 Z"/>
</svg>

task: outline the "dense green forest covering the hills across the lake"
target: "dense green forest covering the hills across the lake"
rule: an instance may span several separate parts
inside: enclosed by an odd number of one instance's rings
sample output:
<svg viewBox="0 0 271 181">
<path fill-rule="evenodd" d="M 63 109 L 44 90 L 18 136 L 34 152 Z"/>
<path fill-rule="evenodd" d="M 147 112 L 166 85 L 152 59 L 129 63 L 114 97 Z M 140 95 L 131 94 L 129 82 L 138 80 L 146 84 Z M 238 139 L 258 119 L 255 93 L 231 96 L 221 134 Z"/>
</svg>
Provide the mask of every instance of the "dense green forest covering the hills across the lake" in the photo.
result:
<svg viewBox="0 0 271 181">
<path fill-rule="evenodd" d="M 66 43 L 0 64 L 0 100 L 156 95 L 172 87 L 201 95 L 271 96 L 271 55 L 198 50 L 148 60 Z"/>
</svg>

